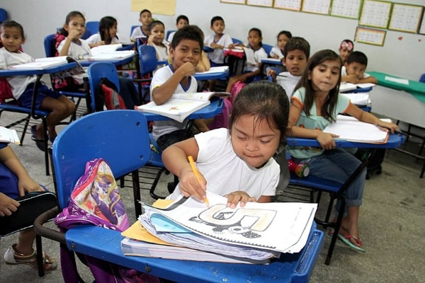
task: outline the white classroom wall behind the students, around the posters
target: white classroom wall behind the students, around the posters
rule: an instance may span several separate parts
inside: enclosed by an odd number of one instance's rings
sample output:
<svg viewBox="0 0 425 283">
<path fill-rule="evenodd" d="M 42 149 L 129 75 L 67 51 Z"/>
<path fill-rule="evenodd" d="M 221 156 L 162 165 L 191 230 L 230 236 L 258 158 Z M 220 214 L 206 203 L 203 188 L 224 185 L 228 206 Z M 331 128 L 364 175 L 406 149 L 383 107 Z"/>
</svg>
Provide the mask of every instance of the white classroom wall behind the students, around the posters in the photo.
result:
<svg viewBox="0 0 425 283">
<path fill-rule="evenodd" d="M 158 0 L 160 1 L 160 0 Z M 118 30 L 130 33 L 131 25 L 138 24 L 139 12 L 130 11 L 130 0 L 4 0 L 1 8 L 8 11 L 8 18 L 21 23 L 27 42 L 24 50 L 33 57 L 43 57 L 42 40 L 62 26 L 69 11 L 84 13 L 86 21 L 98 21 L 103 16 L 118 20 Z M 397 3 L 425 5 L 424 0 L 397 0 Z M 273 45 L 280 30 L 290 30 L 293 35 L 305 37 L 312 53 L 322 49 L 337 51 L 345 38 L 353 39 L 358 21 L 310 13 L 262 8 L 235 4 L 222 4 L 220 0 L 177 0 L 176 15 L 155 15 L 163 21 L 166 30 L 175 29 L 175 18 L 185 14 L 191 24 L 199 25 L 205 34 L 210 33 L 212 16 L 222 16 L 226 32 L 246 41 L 249 28 L 263 31 L 263 42 Z M 402 37 L 402 40 L 399 40 Z M 355 49 L 365 52 L 369 58 L 368 70 L 419 79 L 425 73 L 425 36 L 387 30 L 385 45 L 377 47 L 355 43 Z"/>
</svg>

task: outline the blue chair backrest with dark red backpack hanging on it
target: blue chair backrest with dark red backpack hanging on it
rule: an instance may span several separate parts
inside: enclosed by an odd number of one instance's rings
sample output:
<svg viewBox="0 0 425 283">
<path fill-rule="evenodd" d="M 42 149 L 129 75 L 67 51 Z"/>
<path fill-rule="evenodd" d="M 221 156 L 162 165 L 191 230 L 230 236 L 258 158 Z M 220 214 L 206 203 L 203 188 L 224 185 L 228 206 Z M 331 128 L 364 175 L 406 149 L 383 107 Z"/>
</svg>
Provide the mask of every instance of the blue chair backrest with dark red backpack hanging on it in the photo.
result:
<svg viewBox="0 0 425 283">
<path fill-rule="evenodd" d="M 98 89 L 98 84 L 101 79 L 108 79 L 113 82 L 117 87 L 118 93 L 120 93 L 120 83 L 118 81 L 117 68 L 114 64 L 108 62 L 96 62 L 91 64 L 89 70 L 89 86 L 91 89 L 91 109 L 96 110 L 96 90 Z"/>
</svg>

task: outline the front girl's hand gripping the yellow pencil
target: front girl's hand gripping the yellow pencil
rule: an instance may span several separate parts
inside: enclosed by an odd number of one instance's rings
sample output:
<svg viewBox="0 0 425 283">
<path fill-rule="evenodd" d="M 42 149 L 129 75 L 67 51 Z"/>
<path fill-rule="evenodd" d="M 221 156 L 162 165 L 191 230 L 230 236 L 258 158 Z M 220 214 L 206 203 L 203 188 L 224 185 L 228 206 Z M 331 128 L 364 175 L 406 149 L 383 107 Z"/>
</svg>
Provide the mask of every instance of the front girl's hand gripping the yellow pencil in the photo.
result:
<svg viewBox="0 0 425 283">
<path fill-rule="evenodd" d="M 181 172 L 180 174 L 180 191 L 185 197 L 195 197 L 198 200 L 205 200 L 207 197 L 207 181 L 201 173 L 199 183 L 198 178 L 195 173 L 193 173 L 192 168 L 188 166 L 187 169 Z"/>
</svg>

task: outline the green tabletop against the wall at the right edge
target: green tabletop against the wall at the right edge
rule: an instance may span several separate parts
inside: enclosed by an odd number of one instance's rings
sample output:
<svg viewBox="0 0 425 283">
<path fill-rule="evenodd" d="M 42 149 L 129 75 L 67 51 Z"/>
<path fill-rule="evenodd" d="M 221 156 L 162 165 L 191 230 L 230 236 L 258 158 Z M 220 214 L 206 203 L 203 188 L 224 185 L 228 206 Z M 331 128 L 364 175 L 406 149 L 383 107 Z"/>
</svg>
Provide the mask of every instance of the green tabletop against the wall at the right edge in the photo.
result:
<svg viewBox="0 0 425 283">
<path fill-rule="evenodd" d="M 370 76 L 375 76 L 375 78 L 378 80 L 378 85 L 380 86 L 386 86 L 387 88 L 394 88 L 399 91 L 407 91 L 418 100 L 425 102 L 425 83 L 421 83 L 420 81 L 412 81 L 412 80 L 408 80 L 409 84 L 397 83 L 395 81 L 387 81 L 385 80 L 385 76 L 390 76 L 396 79 L 403 79 L 403 78 L 400 78 L 399 76 L 392 76 L 391 74 L 381 73 L 379 71 L 370 71 L 368 72 L 368 74 L 370 74 Z"/>
</svg>

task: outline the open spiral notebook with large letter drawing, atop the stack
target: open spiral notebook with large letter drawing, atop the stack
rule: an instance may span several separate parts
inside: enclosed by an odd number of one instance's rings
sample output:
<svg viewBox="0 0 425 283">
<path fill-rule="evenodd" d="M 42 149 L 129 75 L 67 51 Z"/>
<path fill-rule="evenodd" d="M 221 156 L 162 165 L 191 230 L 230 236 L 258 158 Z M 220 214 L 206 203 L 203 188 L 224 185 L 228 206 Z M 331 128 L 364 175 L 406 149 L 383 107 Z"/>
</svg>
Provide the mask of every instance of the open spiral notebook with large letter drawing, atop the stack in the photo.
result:
<svg viewBox="0 0 425 283">
<path fill-rule="evenodd" d="M 277 202 L 249 202 L 245 207 L 231 209 L 226 206 L 226 197 L 209 191 L 207 197 L 210 207 L 185 197 L 165 209 L 145 204 L 149 215 L 143 214 L 141 218 L 161 214 L 184 229 L 209 238 L 211 245 L 220 242 L 258 250 L 298 253 L 307 242 L 317 209 L 317 204 Z M 145 222 L 142 224 L 145 226 Z M 179 237 L 178 233 L 186 237 L 182 232 L 176 232 L 174 236 Z"/>
</svg>

